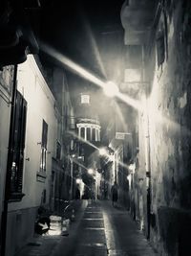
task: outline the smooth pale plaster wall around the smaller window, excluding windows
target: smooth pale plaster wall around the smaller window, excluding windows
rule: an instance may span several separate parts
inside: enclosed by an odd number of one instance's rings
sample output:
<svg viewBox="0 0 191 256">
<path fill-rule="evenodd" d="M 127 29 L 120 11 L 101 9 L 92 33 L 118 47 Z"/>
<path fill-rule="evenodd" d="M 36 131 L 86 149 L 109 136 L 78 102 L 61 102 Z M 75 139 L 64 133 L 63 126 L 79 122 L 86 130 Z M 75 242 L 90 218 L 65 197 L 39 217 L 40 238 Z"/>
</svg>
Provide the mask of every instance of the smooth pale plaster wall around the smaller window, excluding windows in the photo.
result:
<svg viewBox="0 0 191 256">
<path fill-rule="evenodd" d="M 32 237 L 36 210 L 42 205 L 44 190 L 46 190 L 44 205 L 49 205 L 52 157 L 55 157 L 57 138 L 53 94 L 32 56 L 28 56 L 27 61 L 18 66 L 17 80 L 18 90 L 28 103 L 23 171 L 25 196 L 21 201 L 9 204 L 7 234 L 7 255 L 9 256 Z M 38 181 L 36 175 L 40 169 L 41 150 L 41 145 L 38 143 L 41 142 L 43 119 L 48 124 L 47 168 L 46 177 Z"/>
</svg>

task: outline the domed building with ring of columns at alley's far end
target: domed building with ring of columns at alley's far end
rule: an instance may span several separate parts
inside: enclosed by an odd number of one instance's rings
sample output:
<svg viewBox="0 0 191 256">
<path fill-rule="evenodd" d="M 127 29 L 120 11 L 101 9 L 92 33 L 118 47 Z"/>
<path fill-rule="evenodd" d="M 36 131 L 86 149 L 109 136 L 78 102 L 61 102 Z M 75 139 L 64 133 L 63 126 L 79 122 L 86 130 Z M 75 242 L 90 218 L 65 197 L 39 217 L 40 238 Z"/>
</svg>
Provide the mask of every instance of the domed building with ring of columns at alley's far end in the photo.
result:
<svg viewBox="0 0 191 256">
<path fill-rule="evenodd" d="M 83 198 L 90 198 L 91 194 L 97 192 L 96 169 L 98 162 L 96 161 L 98 147 L 100 144 L 100 123 L 96 110 L 91 105 L 91 93 L 83 92 L 80 94 L 78 105 L 78 114 L 76 118 L 76 133 L 78 136 L 78 156 L 83 158 L 79 165 L 79 173 L 82 177 L 84 191 Z M 78 160 L 79 161 L 79 160 Z M 81 165 L 82 164 L 82 165 Z M 93 174 L 89 174 L 88 170 L 92 169 Z M 96 178 L 97 177 L 97 178 Z"/>
</svg>

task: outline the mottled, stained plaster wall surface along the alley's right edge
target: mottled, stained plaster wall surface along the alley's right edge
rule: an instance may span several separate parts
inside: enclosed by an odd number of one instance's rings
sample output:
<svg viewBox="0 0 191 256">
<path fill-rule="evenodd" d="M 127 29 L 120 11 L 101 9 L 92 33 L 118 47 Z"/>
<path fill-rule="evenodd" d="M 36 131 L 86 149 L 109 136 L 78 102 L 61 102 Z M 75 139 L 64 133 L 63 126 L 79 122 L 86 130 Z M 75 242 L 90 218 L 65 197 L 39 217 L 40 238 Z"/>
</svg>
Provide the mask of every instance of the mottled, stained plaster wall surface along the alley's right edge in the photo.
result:
<svg viewBox="0 0 191 256">
<path fill-rule="evenodd" d="M 155 63 L 148 107 L 155 217 L 150 239 L 161 255 L 191 253 L 187 239 L 191 231 L 190 8 L 189 1 L 174 1 L 166 9 L 165 60 L 158 66 L 156 45 L 150 55 Z M 149 67 L 148 72 L 152 72 Z"/>
</svg>

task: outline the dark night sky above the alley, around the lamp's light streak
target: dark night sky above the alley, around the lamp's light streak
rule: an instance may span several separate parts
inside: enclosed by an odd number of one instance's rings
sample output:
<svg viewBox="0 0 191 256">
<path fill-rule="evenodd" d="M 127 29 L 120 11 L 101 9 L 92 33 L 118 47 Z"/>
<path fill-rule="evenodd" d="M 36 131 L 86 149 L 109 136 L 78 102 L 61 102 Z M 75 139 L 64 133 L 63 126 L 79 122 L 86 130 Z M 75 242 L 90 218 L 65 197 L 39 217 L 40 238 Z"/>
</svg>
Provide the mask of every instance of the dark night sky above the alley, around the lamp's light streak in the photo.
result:
<svg viewBox="0 0 191 256">
<path fill-rule="evenodd" d="M 38 36 L 43 43 L 51 45 L 67 58 L 84 67 L 98 78 L 120 81 L 117 74 L 121 64 L 123 29 L 120 10 L 124 0 L 74 0 L 49 1 L 42 5 Z M 46 64 L 55 64 L 44 54 Z M 56 63 L 57 64 L 57 63 Z M 79 93 L 94 92 L 92 107 L 104 116 L 108 105 L 102 90 L 90 81 L 79 78 L 64 67 L 67 74 L 72 100 L 76 102 Z M 99 100 L 99 105 L 96 104 Z M 103 117 L 104 119 L 104 117 Z"/>
</svg>

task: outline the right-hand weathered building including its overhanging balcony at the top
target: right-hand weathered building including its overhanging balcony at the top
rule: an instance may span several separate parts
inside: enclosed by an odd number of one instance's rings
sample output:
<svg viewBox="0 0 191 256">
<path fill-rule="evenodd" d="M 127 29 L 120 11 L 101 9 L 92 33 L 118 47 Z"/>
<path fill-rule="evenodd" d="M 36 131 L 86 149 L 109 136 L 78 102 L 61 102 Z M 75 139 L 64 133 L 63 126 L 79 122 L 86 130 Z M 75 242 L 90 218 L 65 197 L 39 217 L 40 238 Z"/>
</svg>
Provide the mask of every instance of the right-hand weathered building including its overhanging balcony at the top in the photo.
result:
<svg viewBox="0 0 191 256">
<path fill-rule="evenodd" d="M 142 108 L 131 211 L 159 255 L 190 254 L 190 8 L 189 1 L 135 0 L 121 9 L 123 88 L 131 93 L 134 85 Z"/>
</svg>

